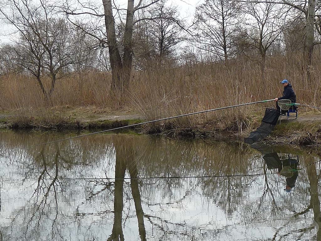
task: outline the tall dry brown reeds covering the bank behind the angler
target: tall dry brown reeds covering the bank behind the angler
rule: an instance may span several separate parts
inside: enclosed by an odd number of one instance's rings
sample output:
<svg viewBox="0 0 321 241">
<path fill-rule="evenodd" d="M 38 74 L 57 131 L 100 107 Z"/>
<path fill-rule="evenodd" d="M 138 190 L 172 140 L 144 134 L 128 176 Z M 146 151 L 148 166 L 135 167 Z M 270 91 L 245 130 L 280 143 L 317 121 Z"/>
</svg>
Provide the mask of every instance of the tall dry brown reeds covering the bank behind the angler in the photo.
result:
<svg viewBox="0 0 321 241">
<path fill-rule="evenodd" d="M 297 94 L 297 102 L 321 105 L 321 62 L 314 60 L 313 82 L 308 82 L 302 55 L 270 57 L 265 72 L 253 61 L 231 60 L 230 63 L 194 63 L 182 67 L 154 67 L 133 71 L 124 106 L 140 112 L 146 120 L 175 116 L 189 112 L 273 99 L 282 96 L 280 80 L 289 79 Z M 52 105 L 115 108 L 118 100 L 108 95 L 110 73 L 86 72 L 57 81 Z M 50 81 L 44 80 L 49 88 Z M 18 113 L 50 112 L 34 78 L 8 74 L 0 82 L 0 109 Z M 248 105 L 170 121 L 177 129 L 193 129 L 211 124 L 218 128 L 241 130 L 250 125 L 249 116 L 260 115 L 264 107 L 274 102 Z M 168 122 L 167 122 L 168 123 Z M 159 123 L 159 129 L 165 123 Z"/>
</svg>

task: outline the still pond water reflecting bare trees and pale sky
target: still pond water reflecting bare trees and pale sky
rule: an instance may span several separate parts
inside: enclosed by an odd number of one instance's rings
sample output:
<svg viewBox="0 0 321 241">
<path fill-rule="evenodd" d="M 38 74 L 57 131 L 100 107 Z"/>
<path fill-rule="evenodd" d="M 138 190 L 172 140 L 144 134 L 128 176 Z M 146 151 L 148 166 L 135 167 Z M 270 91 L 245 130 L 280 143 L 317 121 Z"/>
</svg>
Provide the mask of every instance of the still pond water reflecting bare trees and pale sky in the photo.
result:
<svg viewBox="0 0 321 241">
<path fill-rule="evenodd" d="M 311 150 L 128 134 L 28 148 L 74 135 L 0 132 L 1 241 L 321 240 Z M 291 168 L 269 170 L 271 152 Z"/>
</svg>

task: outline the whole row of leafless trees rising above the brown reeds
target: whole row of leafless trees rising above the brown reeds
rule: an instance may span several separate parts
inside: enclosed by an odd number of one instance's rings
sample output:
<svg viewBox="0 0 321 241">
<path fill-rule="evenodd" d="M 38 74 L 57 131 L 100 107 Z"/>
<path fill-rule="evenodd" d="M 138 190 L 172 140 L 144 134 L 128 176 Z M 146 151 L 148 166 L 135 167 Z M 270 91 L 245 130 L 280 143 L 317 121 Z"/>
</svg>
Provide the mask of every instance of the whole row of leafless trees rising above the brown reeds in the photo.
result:
<svg viewBox="0 0 321 241">
<path fill-rule="evenodd" d="M 310 79 L 313 49 L 321 43 L 320 5 L 315 0 L 204 0 L 189 19 L 192 27 L 185 27 L 178 6 L 166 0 L 5 0 L 1 19 L 13 26 L 15 37 L 0 48 L 0 70 L 33 75 L 47 102 L 57 80 L 69 73 L 110 71 L 102 89 L 117 106 L 128 95 L 133 68 L 178 66 L 183 58 L 225 66 L 254 60 L 264 73 L 270 57 L 299 51 Z"/>
</svg>

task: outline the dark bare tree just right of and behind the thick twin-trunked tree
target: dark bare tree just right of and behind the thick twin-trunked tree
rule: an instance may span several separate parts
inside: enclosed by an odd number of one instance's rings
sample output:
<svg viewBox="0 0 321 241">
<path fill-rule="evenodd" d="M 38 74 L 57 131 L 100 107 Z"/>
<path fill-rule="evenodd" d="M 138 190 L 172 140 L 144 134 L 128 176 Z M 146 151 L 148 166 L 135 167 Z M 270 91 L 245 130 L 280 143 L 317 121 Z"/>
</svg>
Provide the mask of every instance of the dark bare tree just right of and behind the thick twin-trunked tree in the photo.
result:
<svg viewBox="0 0 321 241">
<path fill-rule="evenodd" d="M 172 63 L 178 43 L 184 40 L 184 23 L 179 19 L 177 6 L 160 0 L 148 11 L 138 11 L 134 21 L 134 65 L 145 68 L 154 63 Z"/>
</svg>

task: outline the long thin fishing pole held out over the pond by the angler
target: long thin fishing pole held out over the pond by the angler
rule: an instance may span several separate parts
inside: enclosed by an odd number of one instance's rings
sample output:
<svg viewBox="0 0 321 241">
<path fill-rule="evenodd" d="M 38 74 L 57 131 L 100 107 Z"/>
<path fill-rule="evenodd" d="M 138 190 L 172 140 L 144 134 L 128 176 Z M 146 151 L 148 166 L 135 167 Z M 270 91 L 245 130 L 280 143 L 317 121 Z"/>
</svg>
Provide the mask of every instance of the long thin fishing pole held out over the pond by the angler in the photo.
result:
<svg viewBox="0 0 321 241">
<path fill-rule="evenodd" d="M 178 118 L 178 117 L 184 117 L 184 116 L 195 115 L 195 114 L 200 114 L 200 113 L 206 113 L 206 112 L 211 112 L 211 111 L 219 111 L 219 110 L 224 110 L 224 109 L 233 108 L 233 107 L 239 107 L 239 106 L 244 106 L 244 105 L 265 103 L 265 102 L 269 102 L 269 101 L 274 101 L 274 99 L 264 100 L 264 101 L 256 101 L 256 102 L 244 103 L 244 104 L 238 104 L 238 105 L 231 105 L 231 106 L 226 106 L 226 107 L 220 107 L 220 108 L 206 110 L 206 111 L 199 111 L 199 112 L 193 112 L 193 113 L 188 113 L 188 114 L 183 114 L 183 115 L 171 116 L 171 117 L 158 119 L 158 120 L 154 120 L 154 121 L 145 121 L 145 122 L 142 122 L 142 123 L 137 123 L 137 124 L 127 125 L 127 126 L 117 127 L 117 128 L 113 128 L 113 129 L 101 130 L 101 131 L 92 132 L 92 133 L 84 134 L 84 135 L 80 135 L 80 136 L 74 136 L 74 137 L 68 137 L 68 138 L 65 138 L 65 139 L 60 139 L 60 140 L 55 140 L 55 141 L 49 141 L 49 142 L 46 142 L 46 143 L 41 143 L 41 144 L 37 144 L 37 145 L 34 145 L 34 146 L 29 146 L 29 147 L 37 147 L 37 146 L 50 144 L 50 143 L 55 143 L 55 142 L 59 142 L 59 141 L 70 140 L 70 139 L 74 139 L 74 138 L 79 138 L 79 137 L 90 136 L 90 135 L 94 135 L 94 134 L 98 134 L 98 133 L 103 133 L 103 132 L 106 132 L 106 131 L 118 130 L 118 129 L 128 128 L 128 127 L 138 126 L 138 125 L 144 125 L 144 124 L 153 123 L 153 122 L 157 122 L 157 121 L 166 121 L 166 120 L 170 120 L 170 119 L 174 119 L 174 118 Z"/>
</svg>

